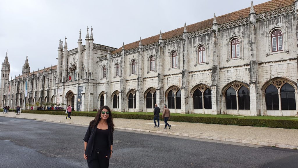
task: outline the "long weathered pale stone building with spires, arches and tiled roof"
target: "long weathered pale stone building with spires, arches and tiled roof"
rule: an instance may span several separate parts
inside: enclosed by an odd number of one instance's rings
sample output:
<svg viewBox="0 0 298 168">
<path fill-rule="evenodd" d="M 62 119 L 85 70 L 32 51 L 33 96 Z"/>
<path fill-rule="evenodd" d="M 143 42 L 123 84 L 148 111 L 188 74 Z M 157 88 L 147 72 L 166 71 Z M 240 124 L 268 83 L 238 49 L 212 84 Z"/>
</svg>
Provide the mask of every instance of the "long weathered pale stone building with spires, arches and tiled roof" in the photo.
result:
<svg viewBox="0 0 298 168">
<path fill-rule="evenodd" d="M 93 43 L 87 28 L 85 45 L 81 31 L 78 48 L 59 42 L 58 65 L 30 73 L 26 59 L 22 76 L 2 75 L 1 106 L 26 99 L 77 110 L 80 99 L 83 111 L 152 112 L 157 103 L 174 113 L 297 116 L 297 11 L 295 0 L 251 4 L 119 49 Z M 7 56 L 1 72 L 9 76 Z"/>
</svg>

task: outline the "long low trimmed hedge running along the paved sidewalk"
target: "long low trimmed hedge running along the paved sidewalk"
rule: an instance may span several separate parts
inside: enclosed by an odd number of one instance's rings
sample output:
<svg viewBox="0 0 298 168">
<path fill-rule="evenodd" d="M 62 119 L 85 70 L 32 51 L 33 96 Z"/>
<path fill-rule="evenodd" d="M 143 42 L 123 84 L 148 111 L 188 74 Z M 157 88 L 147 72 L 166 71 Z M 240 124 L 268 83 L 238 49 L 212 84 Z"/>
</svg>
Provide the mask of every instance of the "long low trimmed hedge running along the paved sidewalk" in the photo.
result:
<svg viewBox="0 0 298 168">
<path fill-rule="evenodd" d="M 65 111 L 37 111 L 24 110 L 23 113 L 33 114 L 54 114 L 66 115 Z M 95 117 L 96 113 L 86 112 L 72 112 L 72 116 L 86 116 Z M 128 118 L 153 120 L 152 114 L 119 114 L 113 113 L 113 118 Z M 160 119 L 162 119 L 160 117 Z M 272 127 L 272 128 L 288 128 L 298 129 L 298 120 L 270 120 L 270 119 L 253 119 L 253 118 L 221 118 L 221 117 L 192 117 L 192 116 L 171 116 L 170 121 L 188 122 L 188 123 L 205 123 L 205 124 L 223 124 L 236 126 L 258 126 L 258 127 Z"/>
</svg>

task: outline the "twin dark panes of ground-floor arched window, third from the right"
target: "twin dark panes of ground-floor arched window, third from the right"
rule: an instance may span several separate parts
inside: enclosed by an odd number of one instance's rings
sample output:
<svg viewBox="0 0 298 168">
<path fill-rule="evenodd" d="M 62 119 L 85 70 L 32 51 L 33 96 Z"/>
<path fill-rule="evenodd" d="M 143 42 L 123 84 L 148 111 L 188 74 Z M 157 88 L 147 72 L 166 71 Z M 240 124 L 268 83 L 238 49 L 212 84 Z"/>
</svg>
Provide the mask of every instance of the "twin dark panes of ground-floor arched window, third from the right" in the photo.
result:
<svg viewBox="0 0 298 168">
<path fill-rule="evenodd" d="M 195 89 L 195 91 L 193 92 L 194 109 L 212 109 L 211 90 L 209 88 L 206 88 L 206 90 L 204 90 L 203 93 L 198 88 Z M 203 103 L 203 97 L 204 97 L 204 103 Z"/>
</svg>

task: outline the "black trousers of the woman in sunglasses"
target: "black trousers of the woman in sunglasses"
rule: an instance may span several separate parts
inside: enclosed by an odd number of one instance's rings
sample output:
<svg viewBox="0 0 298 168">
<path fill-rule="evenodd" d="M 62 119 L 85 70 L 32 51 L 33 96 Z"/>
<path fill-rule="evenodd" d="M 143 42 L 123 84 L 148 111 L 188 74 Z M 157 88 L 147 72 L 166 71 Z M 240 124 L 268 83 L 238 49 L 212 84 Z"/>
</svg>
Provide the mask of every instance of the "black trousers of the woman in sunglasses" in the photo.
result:
<svg viewBox="0 0 298 168">
<path fill-rule="evenodd" d="M 105 157 L 103 152 L 93 150 L 92 156 L 88 156 L 87 163 L 89 168 L 108 168 L 110 160 Z"/>
</svg>

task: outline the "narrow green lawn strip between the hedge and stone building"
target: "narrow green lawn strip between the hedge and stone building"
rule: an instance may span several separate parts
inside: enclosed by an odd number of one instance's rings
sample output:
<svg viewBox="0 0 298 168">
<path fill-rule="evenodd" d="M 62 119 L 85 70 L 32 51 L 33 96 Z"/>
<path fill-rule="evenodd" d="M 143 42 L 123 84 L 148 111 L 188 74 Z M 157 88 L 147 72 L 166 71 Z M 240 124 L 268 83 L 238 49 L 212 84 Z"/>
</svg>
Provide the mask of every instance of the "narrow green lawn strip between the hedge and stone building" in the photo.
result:
<svg viewBox="0 0 298 168">
<path fill-rule="evenodd" d="M 86 112 L 89 113 L 89 112 Z M 97 112 L 91 112 L 97 113 Z M 153 115 L 153 112 L 112 112 L 113 114 L 145 114 L 145 115 Z M 160 116 L 162 113 L 160 113 Z M 298 117 L 275 117 L 275 116 L 241 116 L 241 115 L 229 115 L 229 114 L 179 114 L 179 113 L 171 113 L 172 116 L 191 116 L 191 117 L 218 117 L 218 118 L 252 118 L 252 119 L 268 119 L 268 120 L 298 120 Z"/>
</svg>

